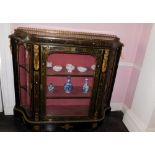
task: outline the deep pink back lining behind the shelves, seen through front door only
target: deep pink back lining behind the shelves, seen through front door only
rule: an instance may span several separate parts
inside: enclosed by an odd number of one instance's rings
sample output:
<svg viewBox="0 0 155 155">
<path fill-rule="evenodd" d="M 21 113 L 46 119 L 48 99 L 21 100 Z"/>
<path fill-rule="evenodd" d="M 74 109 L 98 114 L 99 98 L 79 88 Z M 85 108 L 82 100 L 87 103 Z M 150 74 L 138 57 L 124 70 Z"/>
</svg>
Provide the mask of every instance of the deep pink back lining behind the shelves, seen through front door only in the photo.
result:
<svg viewBox="0 0 155 155">
<path fill-rule="evenodd" d="M 90 69 L 90 67 L 96 64 L 96 58 L 91 55 L 79 55 L 79 54 L 51 54 L 48 56 L 48 62 L 52 62 L 53 66 L 61 65 L 65 69 L 66 64 L 72 64 L 75 67 L 83 66 Z M 52 68 L 51 68 L 52 70 Z M 81 87 L 84 83 L 84 79 L 88 78 L 88 84 L 90 87 L 93 87 L 94 78 L 93 77 L 71 77 L 71 81 L 73 87 Z M 47 85 L 52 83 L 55 86 L 63 86 L 67 80 L 66 77 L 55 77 L 55 76 L 47 76 Z M 90 99 L 47 99 L 47 106 L 88 106 L 90 104 Z M 47 107 L 48 108 L 48 107 Z M 63 108 L 63 107 L 62 107 Z M 52 113 L 52 108 L 47 109 L 48 113 Z M 82 110 L 82 109 L 81 109 Z"/>
</svg>

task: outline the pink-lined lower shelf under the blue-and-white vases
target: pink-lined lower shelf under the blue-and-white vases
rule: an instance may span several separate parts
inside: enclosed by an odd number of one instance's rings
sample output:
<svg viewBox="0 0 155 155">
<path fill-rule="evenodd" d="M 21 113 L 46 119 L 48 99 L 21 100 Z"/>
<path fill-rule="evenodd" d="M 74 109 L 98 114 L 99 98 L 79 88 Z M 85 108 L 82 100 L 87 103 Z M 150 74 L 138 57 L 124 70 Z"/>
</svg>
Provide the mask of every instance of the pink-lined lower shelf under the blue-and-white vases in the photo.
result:
<svg viewBox="0 0 155 155">
<path fill-rule="evenodd" d="M 88 93 L 83 93 L 81 87 L 73 87 L 73 91 L 69 94 L 64 92 L 62 86 L 55 87 L 54 92 L 48 92 L 46 94 L 46 99 L 72 99 L 72 98 L 91 98 L 91 90 L 89 89 Z"/>
</svg>

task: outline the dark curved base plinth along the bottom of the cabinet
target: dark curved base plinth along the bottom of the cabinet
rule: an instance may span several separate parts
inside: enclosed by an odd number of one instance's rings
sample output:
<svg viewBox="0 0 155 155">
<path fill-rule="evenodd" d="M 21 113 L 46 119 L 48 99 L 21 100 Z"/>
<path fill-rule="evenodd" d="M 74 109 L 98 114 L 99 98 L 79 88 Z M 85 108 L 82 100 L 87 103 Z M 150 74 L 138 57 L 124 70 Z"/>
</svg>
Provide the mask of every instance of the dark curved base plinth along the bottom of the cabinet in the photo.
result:
<svg viewBox="0 0 155 155">
<path fill-rule="evenodd" d="M 51 121 L 32 121 L 29 119 L 29 117 L 26 115 L 26 113 L 19 108 L 14 108 L 14 116 L 17 119 L 20 119 L 21 125 L 26 126 L 26 131 L 92 131 L 93 129 L 96 129 L 99 127 L 99 124 L 101 124 L 102 119 L 100 120 L 77 120 L 72 122 L 65 122 L 65 121 L 57 121 L 57 122 L 51 122 Z"/>
</svg>

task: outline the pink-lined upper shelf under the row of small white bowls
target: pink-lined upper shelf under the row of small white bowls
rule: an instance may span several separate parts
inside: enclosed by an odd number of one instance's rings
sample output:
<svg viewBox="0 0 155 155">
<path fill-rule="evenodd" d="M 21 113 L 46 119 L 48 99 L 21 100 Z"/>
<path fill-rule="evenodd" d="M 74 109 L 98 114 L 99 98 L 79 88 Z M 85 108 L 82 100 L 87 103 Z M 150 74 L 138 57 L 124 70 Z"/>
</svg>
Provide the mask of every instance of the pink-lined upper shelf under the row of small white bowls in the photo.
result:
<svg viewBox="0 0 155 155">
<path fill-rule="evenodd" d="M 94 77 L 95 72 L 88 68 L 84 73 L 79 72 L 75 69 L 72 73 L 68 73 L 67 70 L 63 67 L 62 71 L 55 72 L 52 68 L 47 68 L 47 76 L 73 76 L 73 77 Z"/>
</svg>

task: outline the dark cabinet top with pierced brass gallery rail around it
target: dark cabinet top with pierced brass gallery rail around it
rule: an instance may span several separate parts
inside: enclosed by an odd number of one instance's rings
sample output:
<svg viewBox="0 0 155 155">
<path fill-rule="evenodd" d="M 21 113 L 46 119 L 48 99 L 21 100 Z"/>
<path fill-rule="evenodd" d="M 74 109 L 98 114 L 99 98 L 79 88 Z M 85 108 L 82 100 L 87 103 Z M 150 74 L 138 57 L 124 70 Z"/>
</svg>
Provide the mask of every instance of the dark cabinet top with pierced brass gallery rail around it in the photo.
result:
<svg viewBox="0 0 155 155">
<path fill-rule="evenodd" d="M 123 46 L 116 35 L 52 29 L 19 27 L 15 29 L 14 34 L 10 35 L 10 37 L 22 42 L 33 43 L 55 43 L 97 48 L 112 45 L 115 47 Z"/>
</svg>

